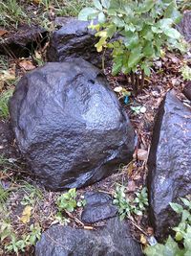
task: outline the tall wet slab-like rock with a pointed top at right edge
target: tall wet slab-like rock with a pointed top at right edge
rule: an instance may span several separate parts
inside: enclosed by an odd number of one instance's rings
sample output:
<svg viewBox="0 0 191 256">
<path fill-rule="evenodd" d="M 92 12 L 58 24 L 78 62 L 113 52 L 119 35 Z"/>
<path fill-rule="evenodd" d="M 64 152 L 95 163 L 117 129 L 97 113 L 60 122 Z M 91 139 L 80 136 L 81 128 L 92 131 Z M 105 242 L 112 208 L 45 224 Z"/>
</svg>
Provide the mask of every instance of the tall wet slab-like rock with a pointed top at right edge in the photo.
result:
<svg viewBox="0 0 191 256">
<path fill-rule="evenodd" d="M 169 203 L 190 194 L 190 149 L 191 111 L 172 90 L 159 107 L 148 158 L 150 220 L 159 238 L 178 221 Z"/>
</svg>

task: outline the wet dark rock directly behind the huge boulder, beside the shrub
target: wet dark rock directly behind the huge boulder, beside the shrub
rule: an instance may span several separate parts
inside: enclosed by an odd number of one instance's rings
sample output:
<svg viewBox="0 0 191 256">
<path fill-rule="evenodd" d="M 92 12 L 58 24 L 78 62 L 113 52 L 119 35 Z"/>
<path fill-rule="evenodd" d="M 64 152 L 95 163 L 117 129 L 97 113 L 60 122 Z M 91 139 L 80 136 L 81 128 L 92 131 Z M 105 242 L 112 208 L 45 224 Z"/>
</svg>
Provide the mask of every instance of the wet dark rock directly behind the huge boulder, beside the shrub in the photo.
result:
<svg viewBox="0 0 191 256">
<path fill-rule="evenodd" d="M 88 28 L 90 22 L 76 18 L 60 18 L 56 24 L 62 26 L 54 31 L 47 51 L 49 61 L 64 61 L 84 58 L 101 67 L 101 55 L 96 52 L 98 38 L 95 31 Z"/>
</svg>

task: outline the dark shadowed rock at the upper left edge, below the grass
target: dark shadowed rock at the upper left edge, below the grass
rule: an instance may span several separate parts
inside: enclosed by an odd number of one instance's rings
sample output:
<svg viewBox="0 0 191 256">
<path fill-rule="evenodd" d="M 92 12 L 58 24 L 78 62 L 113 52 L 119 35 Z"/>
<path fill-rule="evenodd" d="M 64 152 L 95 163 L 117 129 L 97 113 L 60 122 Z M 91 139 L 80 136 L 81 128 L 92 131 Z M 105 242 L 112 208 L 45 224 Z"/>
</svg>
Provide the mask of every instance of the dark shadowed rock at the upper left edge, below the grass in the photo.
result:
<svg viewBox="0 0 191 256">
<path fill-rule="evenodd" d="M 0 54 L 13 53 L 16 57 L 28 57 L 35 47 L 43 44 L 47 32 L 38 26 L 24 25 L 16 33 L 6 34 L 0 40 Z"/>
</svg>

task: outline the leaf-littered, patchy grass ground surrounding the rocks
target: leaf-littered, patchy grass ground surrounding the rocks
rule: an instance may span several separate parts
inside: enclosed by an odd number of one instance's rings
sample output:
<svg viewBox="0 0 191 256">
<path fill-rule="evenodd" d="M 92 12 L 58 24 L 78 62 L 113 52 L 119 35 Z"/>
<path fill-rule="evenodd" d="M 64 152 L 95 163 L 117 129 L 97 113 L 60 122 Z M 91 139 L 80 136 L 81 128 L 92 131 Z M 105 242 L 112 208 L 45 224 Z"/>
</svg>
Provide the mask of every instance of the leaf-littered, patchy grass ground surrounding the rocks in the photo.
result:
<svg viewBox="0 0 191 256">
<path fill-rule="evenodd" d="M 27 2 L 20 1 L 19 8 L 15 5 L 11 9 L 0 1 L 0 13 L 4 12 L 2 16 L 0 14 L 0 36 L 2 38 L 18 31 L 21 20 L 23 23 L 31 22 L 30 24 L 41 25 L 46 30 L 53 30 L 52 21 L 55 16 L 76 15 L 82 7 L 87 6 L 91 1 L 64 1 L 64 5 L 63 1 L 53 1 L 53 5 L 50 5 L 48 0 L 42 1 L 41 4 L 38 0 Z M 16 15 L 15 10 L 17 10 Z M 12 15 L 12 13 L 14 14 Z M 46 62 L 44 58 L 46 47 L 43 53 L 40 51 L 41 49 L 35 49 L 28 58 L 14 58 L 13 55 L 0 56 L 0 239 L 2 242 L 0 255 L 16 255 L 16 253 L 32 255 L 34 248 L 32 242 L 27 246 L 23 245 L 26 237 L 30 234 L 36 239 L 38 238 L 37 234 L 46 230 L 53 223 L 60 222 L 56 216 L 58 211 L 56 198 L 64 192 L 46 191 L 35 181 L 35 177 L 30 175 L 29 167 L 20 156 L 11 132 L 8 110 L 8 101 L 16 82 L 26 72 Z M 147 157 L 160 103 L 166 92 L 174 88 L 180 100 L 188 105 L 186 98 L 181 93 L 184 81 L 180 70 L 184 61 L 185 59 L 179 53 L 166 52 L 164 58 L 154 63 L 151 77 L 146 78 L 143 90 L 138 96 L 133 96 L 132 87 L 127 77 L 123 75 L 113 77 L 110 68 L 104 70 L 115 91 L 121 86 L 131 93 L 128 102 L 124 101 L 120 92 L 117 93 L 117 97 L 126 109 L 136 130 L 137 149 L 130 164 L 121 166 L 115 175 L 85 189 L 77 190 L 77 198 L 80 198 L 86 191 L 102 191 L 114 196 L 117 185 L 125 187 L 128 198 L 135 198 L 135 193 L 146 186 Z M 80 221 L 81 210 L 82 208 L 79 207 L 73 213 L 66 211 L 62 221 L 73 226 L 86 226 Z M 135 238 L 145 246 L 147 244 L 145 236 L 153 233 L 152 227 L 149 225 L 147 211 L 142 216 L 132 216 L 131 223 Z M 88 228 L 96 228 L 102 224 L 104 222 L 98 222 Z M 22 248 L 24 248 L 24 252 L 22 252 Z"/>
</svg>

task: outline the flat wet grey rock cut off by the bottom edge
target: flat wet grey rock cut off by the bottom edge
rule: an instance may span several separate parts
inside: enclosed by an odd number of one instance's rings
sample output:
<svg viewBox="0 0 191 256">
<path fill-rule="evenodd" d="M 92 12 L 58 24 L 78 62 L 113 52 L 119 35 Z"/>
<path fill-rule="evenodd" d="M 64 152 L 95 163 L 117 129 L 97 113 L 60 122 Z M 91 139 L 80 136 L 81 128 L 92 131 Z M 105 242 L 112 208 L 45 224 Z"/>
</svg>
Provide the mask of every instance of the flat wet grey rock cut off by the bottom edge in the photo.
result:
<svg viewBox="0 0 191 256">
<path fill-rule="evenodd" d="M 125 221 L 112 219 L 104 228 L 75 229 L 54 225 L 35 246 L 35 256 L 141 256 Z"/>
</svg>

